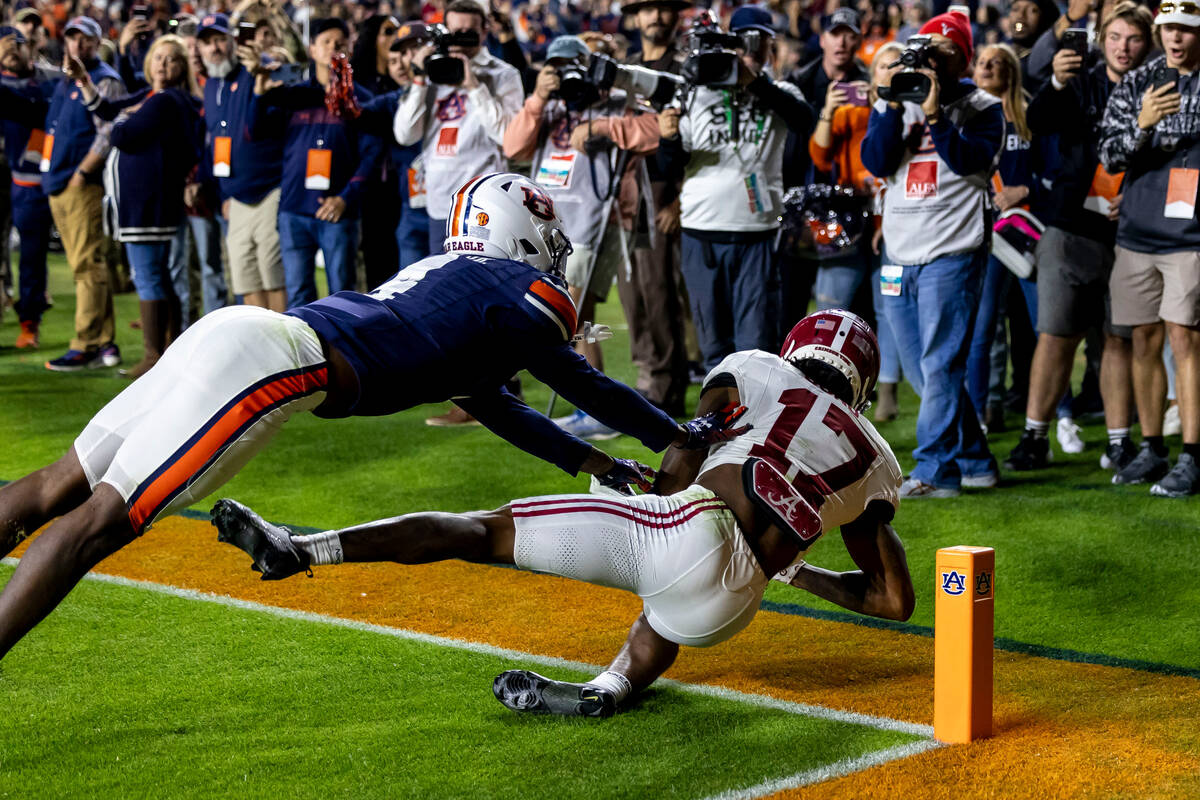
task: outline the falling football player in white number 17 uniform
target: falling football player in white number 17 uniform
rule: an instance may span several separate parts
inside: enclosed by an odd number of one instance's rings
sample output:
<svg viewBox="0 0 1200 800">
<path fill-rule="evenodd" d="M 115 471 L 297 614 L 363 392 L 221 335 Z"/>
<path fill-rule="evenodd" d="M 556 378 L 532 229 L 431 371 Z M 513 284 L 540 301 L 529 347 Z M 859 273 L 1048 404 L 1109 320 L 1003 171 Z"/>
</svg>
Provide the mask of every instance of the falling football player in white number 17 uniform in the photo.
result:
<svg viewBox="0 0 1200 800">
<path fill-rule="evenodd" d="M 862 614 L 912 614 L 904 546 L 889 524 L 900 467 L 862 414 L 878 357 L 875 333 L 845 311 L 800 320 L 780 356 L 726 357 L 706 380 L 698 414 L 744 404 L 742 421 L 751 427 L 728 431 L 743 435 L 707 451 L 668 450 L 658 494 L 527 498 L 496 511 L 412 513 L 310 536 L 232 500 L 217 504 L 214 519 L 220 539 L 246 551 L 264 579 L 343 561 L 462 559 L 634 591 L 642 614 L 593 680 L 509 670 L 493 685 L 515 711 L 608 716 L 662 674 L 680 644 L 713 645 L 749 625 L 770 577 Z M 859 569 L 806 564 L 805 553 L 838 527 Z"/>
</svg>

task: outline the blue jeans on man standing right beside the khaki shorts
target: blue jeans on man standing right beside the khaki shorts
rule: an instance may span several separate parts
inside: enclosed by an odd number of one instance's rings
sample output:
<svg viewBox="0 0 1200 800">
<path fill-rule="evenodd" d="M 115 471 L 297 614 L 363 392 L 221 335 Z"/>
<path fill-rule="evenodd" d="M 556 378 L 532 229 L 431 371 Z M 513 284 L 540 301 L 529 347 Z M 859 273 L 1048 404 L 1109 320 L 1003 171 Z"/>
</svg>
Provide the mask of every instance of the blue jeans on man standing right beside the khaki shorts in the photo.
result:
<svg viewBox="0 0 1200 800">
<path fill-rule="evenodd" d="M 358 218 L 323 222 L 290 211 L 280 211 L 280 248 L 288 308 L 317 300 L 317 251 L 325 257 L 329 294 L 354 289 L 354 252 L 359 243 Z"/>
</svg>

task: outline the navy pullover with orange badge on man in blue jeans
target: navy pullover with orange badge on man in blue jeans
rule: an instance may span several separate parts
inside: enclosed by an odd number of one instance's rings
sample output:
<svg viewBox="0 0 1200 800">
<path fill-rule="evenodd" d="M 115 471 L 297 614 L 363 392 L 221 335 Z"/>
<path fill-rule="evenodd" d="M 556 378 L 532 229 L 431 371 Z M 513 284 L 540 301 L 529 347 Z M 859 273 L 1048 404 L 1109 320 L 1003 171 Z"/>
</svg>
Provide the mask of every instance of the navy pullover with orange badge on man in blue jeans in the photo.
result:
<svg viewBox="0 0 1200 800">
<path fill-rule="evenodd" d="M 359 104 L 371 101 L 371 92 L 354 88 Z M 325 197 L 346 200 L 342 217 L 359 216 L 359 198 L 383 154 L 379 137 L 347 125 L 325 108 L 325 89 L 316 78 L 292 86 L 278 86 L 258 98 L 251 124 L 254 139 L 283 137 L 283 193 L 280 211 L 314 216 Z M 329 187 L 306 188 L 310 162 L 326 151 L 330 160 Z"/>
</svg>

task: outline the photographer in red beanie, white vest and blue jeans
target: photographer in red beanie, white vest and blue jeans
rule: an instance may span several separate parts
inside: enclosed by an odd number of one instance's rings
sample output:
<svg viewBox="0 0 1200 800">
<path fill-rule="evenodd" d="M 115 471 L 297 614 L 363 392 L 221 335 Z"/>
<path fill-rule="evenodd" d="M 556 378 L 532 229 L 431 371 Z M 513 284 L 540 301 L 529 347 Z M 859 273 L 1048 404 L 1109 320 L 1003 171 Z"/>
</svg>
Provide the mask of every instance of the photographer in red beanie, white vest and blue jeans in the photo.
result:
<svg viewBox="0 0 1200 800">
<path fill-rule="evenodd" d="M 917 465 L 901 497 L 995 486 L 996 462 L 966 391 L 990 229 L 1001 101 L 964 78 L 971 26 L 940 14 L 878 74 L 863 164 L 887 182 L 880 271 L 905 375 L 920 395 Z"/>
</svg>

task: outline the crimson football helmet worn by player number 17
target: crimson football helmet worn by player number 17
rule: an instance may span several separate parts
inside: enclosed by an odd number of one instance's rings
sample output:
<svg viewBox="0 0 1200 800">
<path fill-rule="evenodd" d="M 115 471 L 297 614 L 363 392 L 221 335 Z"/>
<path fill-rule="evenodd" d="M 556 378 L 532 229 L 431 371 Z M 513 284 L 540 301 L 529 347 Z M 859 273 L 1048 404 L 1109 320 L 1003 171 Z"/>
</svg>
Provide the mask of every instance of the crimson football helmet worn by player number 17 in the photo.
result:
<svg viewBox="0 0 1200 800">
<path fill-rule="evenodd" d="M 856 411 L 866 408 L 880 377 L 880 343 L 875 331 L 862 317 L 840 308 L 818 311 L 796 323 L 779 355 L 792 365 L 815 359 L 846 375 Z"/>
</svg>

